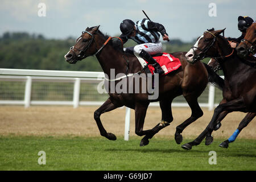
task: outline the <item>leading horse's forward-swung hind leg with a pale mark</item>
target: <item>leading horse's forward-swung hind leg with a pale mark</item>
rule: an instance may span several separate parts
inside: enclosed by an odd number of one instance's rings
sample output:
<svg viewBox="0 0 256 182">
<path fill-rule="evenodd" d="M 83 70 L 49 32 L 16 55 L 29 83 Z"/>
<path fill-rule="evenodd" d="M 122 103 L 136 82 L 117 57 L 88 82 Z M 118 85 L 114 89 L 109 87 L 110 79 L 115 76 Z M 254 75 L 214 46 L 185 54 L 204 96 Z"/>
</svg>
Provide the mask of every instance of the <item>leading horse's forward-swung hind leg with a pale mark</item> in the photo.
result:
<svg viewBox="0 0 256 182">
<path fill-rule="evenodd" d="M 159 101 L 162 111 L 162 120 L 151 129 L 151 134 L 147 134 L 145 135 L 145 137 L 142 138 L 140 146 L 146 146 L 149 143 L 148 139 L 151 139 L 156 133 L 158 133 L 164 127 L 170 125 L 170 123 L 174 120 L 174 118 L 172 118 L 171 102 L 172 100 Z"/>
</svg>

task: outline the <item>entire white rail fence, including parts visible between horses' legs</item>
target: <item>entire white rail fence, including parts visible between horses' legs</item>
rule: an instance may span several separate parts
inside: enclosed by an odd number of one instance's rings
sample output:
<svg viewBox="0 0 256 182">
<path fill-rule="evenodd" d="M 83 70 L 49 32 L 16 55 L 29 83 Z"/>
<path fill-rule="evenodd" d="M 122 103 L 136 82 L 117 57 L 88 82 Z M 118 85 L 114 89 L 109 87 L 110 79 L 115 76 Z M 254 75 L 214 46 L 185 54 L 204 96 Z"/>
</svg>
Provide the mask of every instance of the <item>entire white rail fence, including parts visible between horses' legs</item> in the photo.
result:
<svg viewBox="0 0 256 182">
<path fill-rule="evenodd" d="M 95 85 L 104 80 L 103 72 L 77 72 L 77 71 L 46 71 L 46 70 L 31 70 L 31 69 L 0 69 L 0 83 L 3 82 L 23 82 L 24 90 L 22 87 L 18 88 L 20 93 L 24 93 L 22 96 L 17 98 L 3 98 L 1 95 L 7 94 L 8 90 L 5 90 L 4 86 L 0 84 L 0 105 L 24 105 L 25 107 L 29 107 L 30 105 L 71 105 L 74 108 L 78 106 L 97 106 L 102 105 L 104 103 L 104 98 L 100 100 L 89 98 L 90 101 L 86 100 L 87 96 L 83 99 L 80 98 L 83 90 L 81 89 L 81 84 L 94 84 L 94 90 L 90 92 L 95 95 L 100 95 L 97 93 L 95 89 Z M 32 97 L 32 86 L 33 84 L 39 82 L 53 82 L 57 83 L 68 83 L 69 85 L 69 93 L 64 93 L 68 95 L 72 99 L 69 100 L 56 100 L 56 98 L 50 97 L 52 100 L 42 100 L 40 97 L 36 97 L 37 100 L 33 100 Z M 2 88 L 1 88 L 2 87 Z M 85 85 L 85 87 L 91 87 L 90 85 Z M 9 89 L 12 88 L 9 86 Z M 44 86 L 40 86 L 37 92 L 41 92 Z M 70 89 L 72 88 L 72 90 Z M 208 98 L 204 99 L 203 102 L 200 102 L 199 105 L 201 107 L 208 107 L 209 110 L 213 110 L 214 106 L 218 104 L 214 103 L 214 94 L 215 89 L 214 86 L 209 85 L 208 90 Z M 56 91 L 55 91 L 56 92 Z M 65 88 L 60 88 L 57 92 L 65 92 Z M 86 92 L 86 91 L 84 91 Z M 86 93 L 85 93 L 86 94 Z M 22 95 L 22 94 L 20 94 Z M 88 94 L 89 95 L 89 94 Z M 206 94 L 207 95 L 207 94 Z M 107 96 L 105 96 L 108 98 Z M 20 99 L 22 98 L 22 99 Z M 53 100 L 54 98 L 54 100 Z M 207 100 L 207 101 L 205 101 Z M 218 102 L 217 102 L 218 103 Z M 153 102 L 150 106 L 159 106 L 158 102 Z M 187 102 L 185 101 L 175 101 L 172 103 L 174 107 L 188 107 Z M 126 116 L 125 116 L 125 140 L 129 139 L 129 130 L 130 130 L 130 109 L 126 108 Z"/>
</svg>

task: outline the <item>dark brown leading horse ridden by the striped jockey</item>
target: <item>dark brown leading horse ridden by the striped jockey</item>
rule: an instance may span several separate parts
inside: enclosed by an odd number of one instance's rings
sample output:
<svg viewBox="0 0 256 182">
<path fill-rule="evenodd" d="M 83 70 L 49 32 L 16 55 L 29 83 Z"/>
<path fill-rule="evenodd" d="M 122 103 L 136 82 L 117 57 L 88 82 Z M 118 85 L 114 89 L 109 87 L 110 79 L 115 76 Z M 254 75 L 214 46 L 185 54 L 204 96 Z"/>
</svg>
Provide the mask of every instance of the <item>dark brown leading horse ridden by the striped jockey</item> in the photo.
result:
<svg viewBox="0 0 256 182">
<path fill-rule="evenodd" d="M 139 63 L 137 57 L 123 52 L 123 48 L 120 46 L 120 40 L 117 39 L 117 41 L 114 41 L 111 37 L 103 35 L 98 30 L 98 27 L 86 28 L 79 39 L 77 39 L 75 46 L 65 55 L 65 59 L 68 63 L 75 64 L 78 60 L 96 55 L 106 77 L 111 77 L 112 69 L 115 71 L 115 76 L 120 73 L 125 75 L 122 79 L 106 79 L 105 82 L 107 84 L 105 86 L 110 86 L 111 84 L 117 86 L 122 80 L 127 80 L 127 88 L 131 87 L 131 90 L 138 89 L 134 88 L 134 75 L 142 71 L 142 65 Z M 172 55 L 180 59 L 182 66 L 166 76 L 159 77 L 158 98 L 149 100 L 150 93 L 148 93 L 148 90 L 146 93 L 141 92 L 143 89 L 142 84 L 139 85 L 139 93 L 111 93 L 109 89 L 107 90 L 110 97 L 94 112 L 94 119 L 102 136 L 110 140 L 116 139 L 114 134 L 108 133 L 104 129 L 100 115 L 117 107 L 127 106 L 135 110 L 135 133 L 139 136 L 145 135 L 140 145 L 144 146 L 148 144 L 148 139 L 152 138 L 159 130 L 170 125 L 173 120 L 171 111 L 172 100 L 183 94 L 188 105 L 191 107 L 192 114 L 191 117 L 176 127 L 175 140 L 177 143 L 181 143 L 183 139 L 181 133 L 185 127 L 203 115 L 197 98 L 207 86 L 208 76 L 213 79 L 216 75 L 214 75 L 214 72 L 208 75 L 208 70 L 200 61 L 193 65 L 188 64 L 185 52 L 175 52 Z M 198 76 L 194 77 L 194 75 Z M 147 107 L 150 102 L 154 101 L 160 102 L 162 122 L 151 130 L 143 130 Z"/>
</svg>

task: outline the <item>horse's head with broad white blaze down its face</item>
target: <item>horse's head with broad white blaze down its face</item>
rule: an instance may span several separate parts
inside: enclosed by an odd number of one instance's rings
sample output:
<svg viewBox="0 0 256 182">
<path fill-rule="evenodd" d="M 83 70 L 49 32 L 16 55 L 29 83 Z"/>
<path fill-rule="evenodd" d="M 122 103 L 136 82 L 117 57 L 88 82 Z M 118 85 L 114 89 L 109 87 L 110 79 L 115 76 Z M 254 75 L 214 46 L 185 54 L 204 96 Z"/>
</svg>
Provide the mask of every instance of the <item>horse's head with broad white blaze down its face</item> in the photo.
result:
<svg viewBox="0 0 256 182">
<path fill-rule="evenodd" d="M 197 38 L 195 45 L 185 55 L 188 63 L 196 63 L 196 61 L 202 60 L 205 57 L 217 57 L 214 45 L 216 44 L 217 36 L 224 31 L 225 28 L 217 31 L 214 31 L 214 28 L 212 28 Z"/>
</svg>

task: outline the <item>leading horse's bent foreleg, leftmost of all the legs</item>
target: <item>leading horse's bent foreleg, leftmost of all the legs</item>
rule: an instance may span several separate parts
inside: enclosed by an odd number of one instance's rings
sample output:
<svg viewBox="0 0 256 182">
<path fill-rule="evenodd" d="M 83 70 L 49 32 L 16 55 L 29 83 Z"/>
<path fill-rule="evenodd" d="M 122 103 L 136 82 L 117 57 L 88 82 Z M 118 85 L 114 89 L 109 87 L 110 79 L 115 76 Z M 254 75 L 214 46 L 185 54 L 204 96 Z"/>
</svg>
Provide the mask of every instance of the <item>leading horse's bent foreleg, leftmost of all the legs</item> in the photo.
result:
<svg viewBox="0 0 256 182">
<path fill-rule="evenodd" d="M 117 137 L 115 137 L 114 134 L 112 133 L 107 133 L 106 130 L 104 129 L 102 123 L 101 123 L 101 119 L 100 119 L 100 115 L 103 113 L 106 113 L 108 111 L 114 110 L 117 107 L 121 107 L 122 105 L 114 105 L 113 102 L 110 100 L 110 98 L 108 98 L 108 100 L 106 100 L 104 102 L 104 104 L 102 104 L 95 112 L 94 112 L 94 119 L 97 123 L 98 129 L 100 130 L 100 134 L 103 137 L 108 138 L 109 140 L 116 140 Z"/>
</svg>

